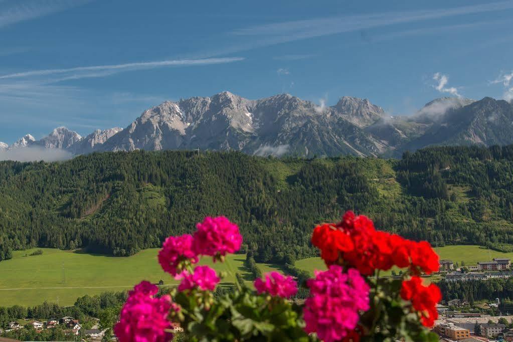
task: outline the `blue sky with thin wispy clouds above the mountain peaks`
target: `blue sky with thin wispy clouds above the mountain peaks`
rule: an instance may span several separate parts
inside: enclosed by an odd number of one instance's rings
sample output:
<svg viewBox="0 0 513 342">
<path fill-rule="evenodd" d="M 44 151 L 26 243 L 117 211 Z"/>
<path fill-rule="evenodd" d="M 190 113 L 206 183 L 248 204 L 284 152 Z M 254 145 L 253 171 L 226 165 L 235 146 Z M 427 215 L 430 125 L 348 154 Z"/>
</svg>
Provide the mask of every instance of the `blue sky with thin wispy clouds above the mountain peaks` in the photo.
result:
<svg viewBox="0 0 513 342">
<path fill-rule="evenodd" d="M 407 115 L 513 97 L 513 1 L 0 0 L 0 141 L 126 127 L 166 99 L 287 92 Z"/>
</svg>

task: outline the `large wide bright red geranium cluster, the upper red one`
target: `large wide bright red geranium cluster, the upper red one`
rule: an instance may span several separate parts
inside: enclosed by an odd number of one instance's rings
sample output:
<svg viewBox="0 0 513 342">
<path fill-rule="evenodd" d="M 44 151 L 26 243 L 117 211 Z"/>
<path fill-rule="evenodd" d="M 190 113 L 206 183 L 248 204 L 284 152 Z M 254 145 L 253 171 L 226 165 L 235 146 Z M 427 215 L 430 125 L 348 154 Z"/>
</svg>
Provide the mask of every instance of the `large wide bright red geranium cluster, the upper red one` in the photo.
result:
<svg viewBox="0 0 513 342">
<path fill-rule="evenodd" d="M 344 263 L 370 275 L 392 266 L 410 267 L 414 273 L 436 272 L 438 255 L 427 242 L 415 242 L 396 234 L 378 231 L 372 221 L 348 211 L 338 224 L 315 227 L 312 244 L 321 250 L 327 266 Z"/>
</svg>

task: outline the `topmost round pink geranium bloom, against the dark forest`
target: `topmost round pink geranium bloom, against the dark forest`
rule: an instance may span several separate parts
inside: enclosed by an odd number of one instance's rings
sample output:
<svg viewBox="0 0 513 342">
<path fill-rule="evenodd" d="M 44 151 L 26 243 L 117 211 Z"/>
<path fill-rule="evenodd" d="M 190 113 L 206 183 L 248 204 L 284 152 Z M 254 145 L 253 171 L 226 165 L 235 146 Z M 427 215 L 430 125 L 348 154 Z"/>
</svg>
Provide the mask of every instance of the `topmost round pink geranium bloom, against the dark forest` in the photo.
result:
<svg viewBox="0 0 513 342">
<path fill-rule="evenodd" d="M 224 216 L 205 217 L 196 225 L 194 249 L 202 255 L 226 255 L 241 248 L 242 235 L 239 227 Z"/>
</svg>

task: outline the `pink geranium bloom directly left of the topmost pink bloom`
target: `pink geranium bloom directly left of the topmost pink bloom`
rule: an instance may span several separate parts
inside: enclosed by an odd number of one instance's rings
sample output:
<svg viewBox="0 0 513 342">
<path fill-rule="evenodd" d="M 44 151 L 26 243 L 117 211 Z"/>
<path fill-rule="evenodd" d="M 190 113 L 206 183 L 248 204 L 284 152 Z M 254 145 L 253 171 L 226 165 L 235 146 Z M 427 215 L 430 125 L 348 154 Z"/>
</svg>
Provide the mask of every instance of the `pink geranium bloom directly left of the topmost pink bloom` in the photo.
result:
<svg viewBox="0 0 513 342">
<path fill-rule="evenodd" d="M 190 234 L 169 236 L 165 240 L 162 249 L 159 251 L 159 264 L 165 272 L 176 277 L 183 271 L 179 270 L 180 263 L 187 259 L 192 264 L 198 262 L 198 254 L 194 252 L 192 241 Z"/>
</svg>

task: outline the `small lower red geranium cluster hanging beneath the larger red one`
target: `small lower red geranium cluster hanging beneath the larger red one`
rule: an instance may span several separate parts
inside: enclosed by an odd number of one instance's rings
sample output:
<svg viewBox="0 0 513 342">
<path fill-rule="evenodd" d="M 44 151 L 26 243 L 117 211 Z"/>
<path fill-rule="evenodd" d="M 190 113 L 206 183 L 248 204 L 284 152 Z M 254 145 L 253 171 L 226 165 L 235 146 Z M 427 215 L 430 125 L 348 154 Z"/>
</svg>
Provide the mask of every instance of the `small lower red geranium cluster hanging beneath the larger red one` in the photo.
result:
<svg viewBox="0 0 513 342">
<path fill-rule="evenodd" d="M 438 318 L 437 303 L 442 299 L 440 289 L 435 284 L 422 285 L 422 279 L 418 276 L 403 281 L 401 298 L 411 301 L 413 309 L 419 312 L 421 322 L 426 327 L 432 327 Z"/>
</svg>

